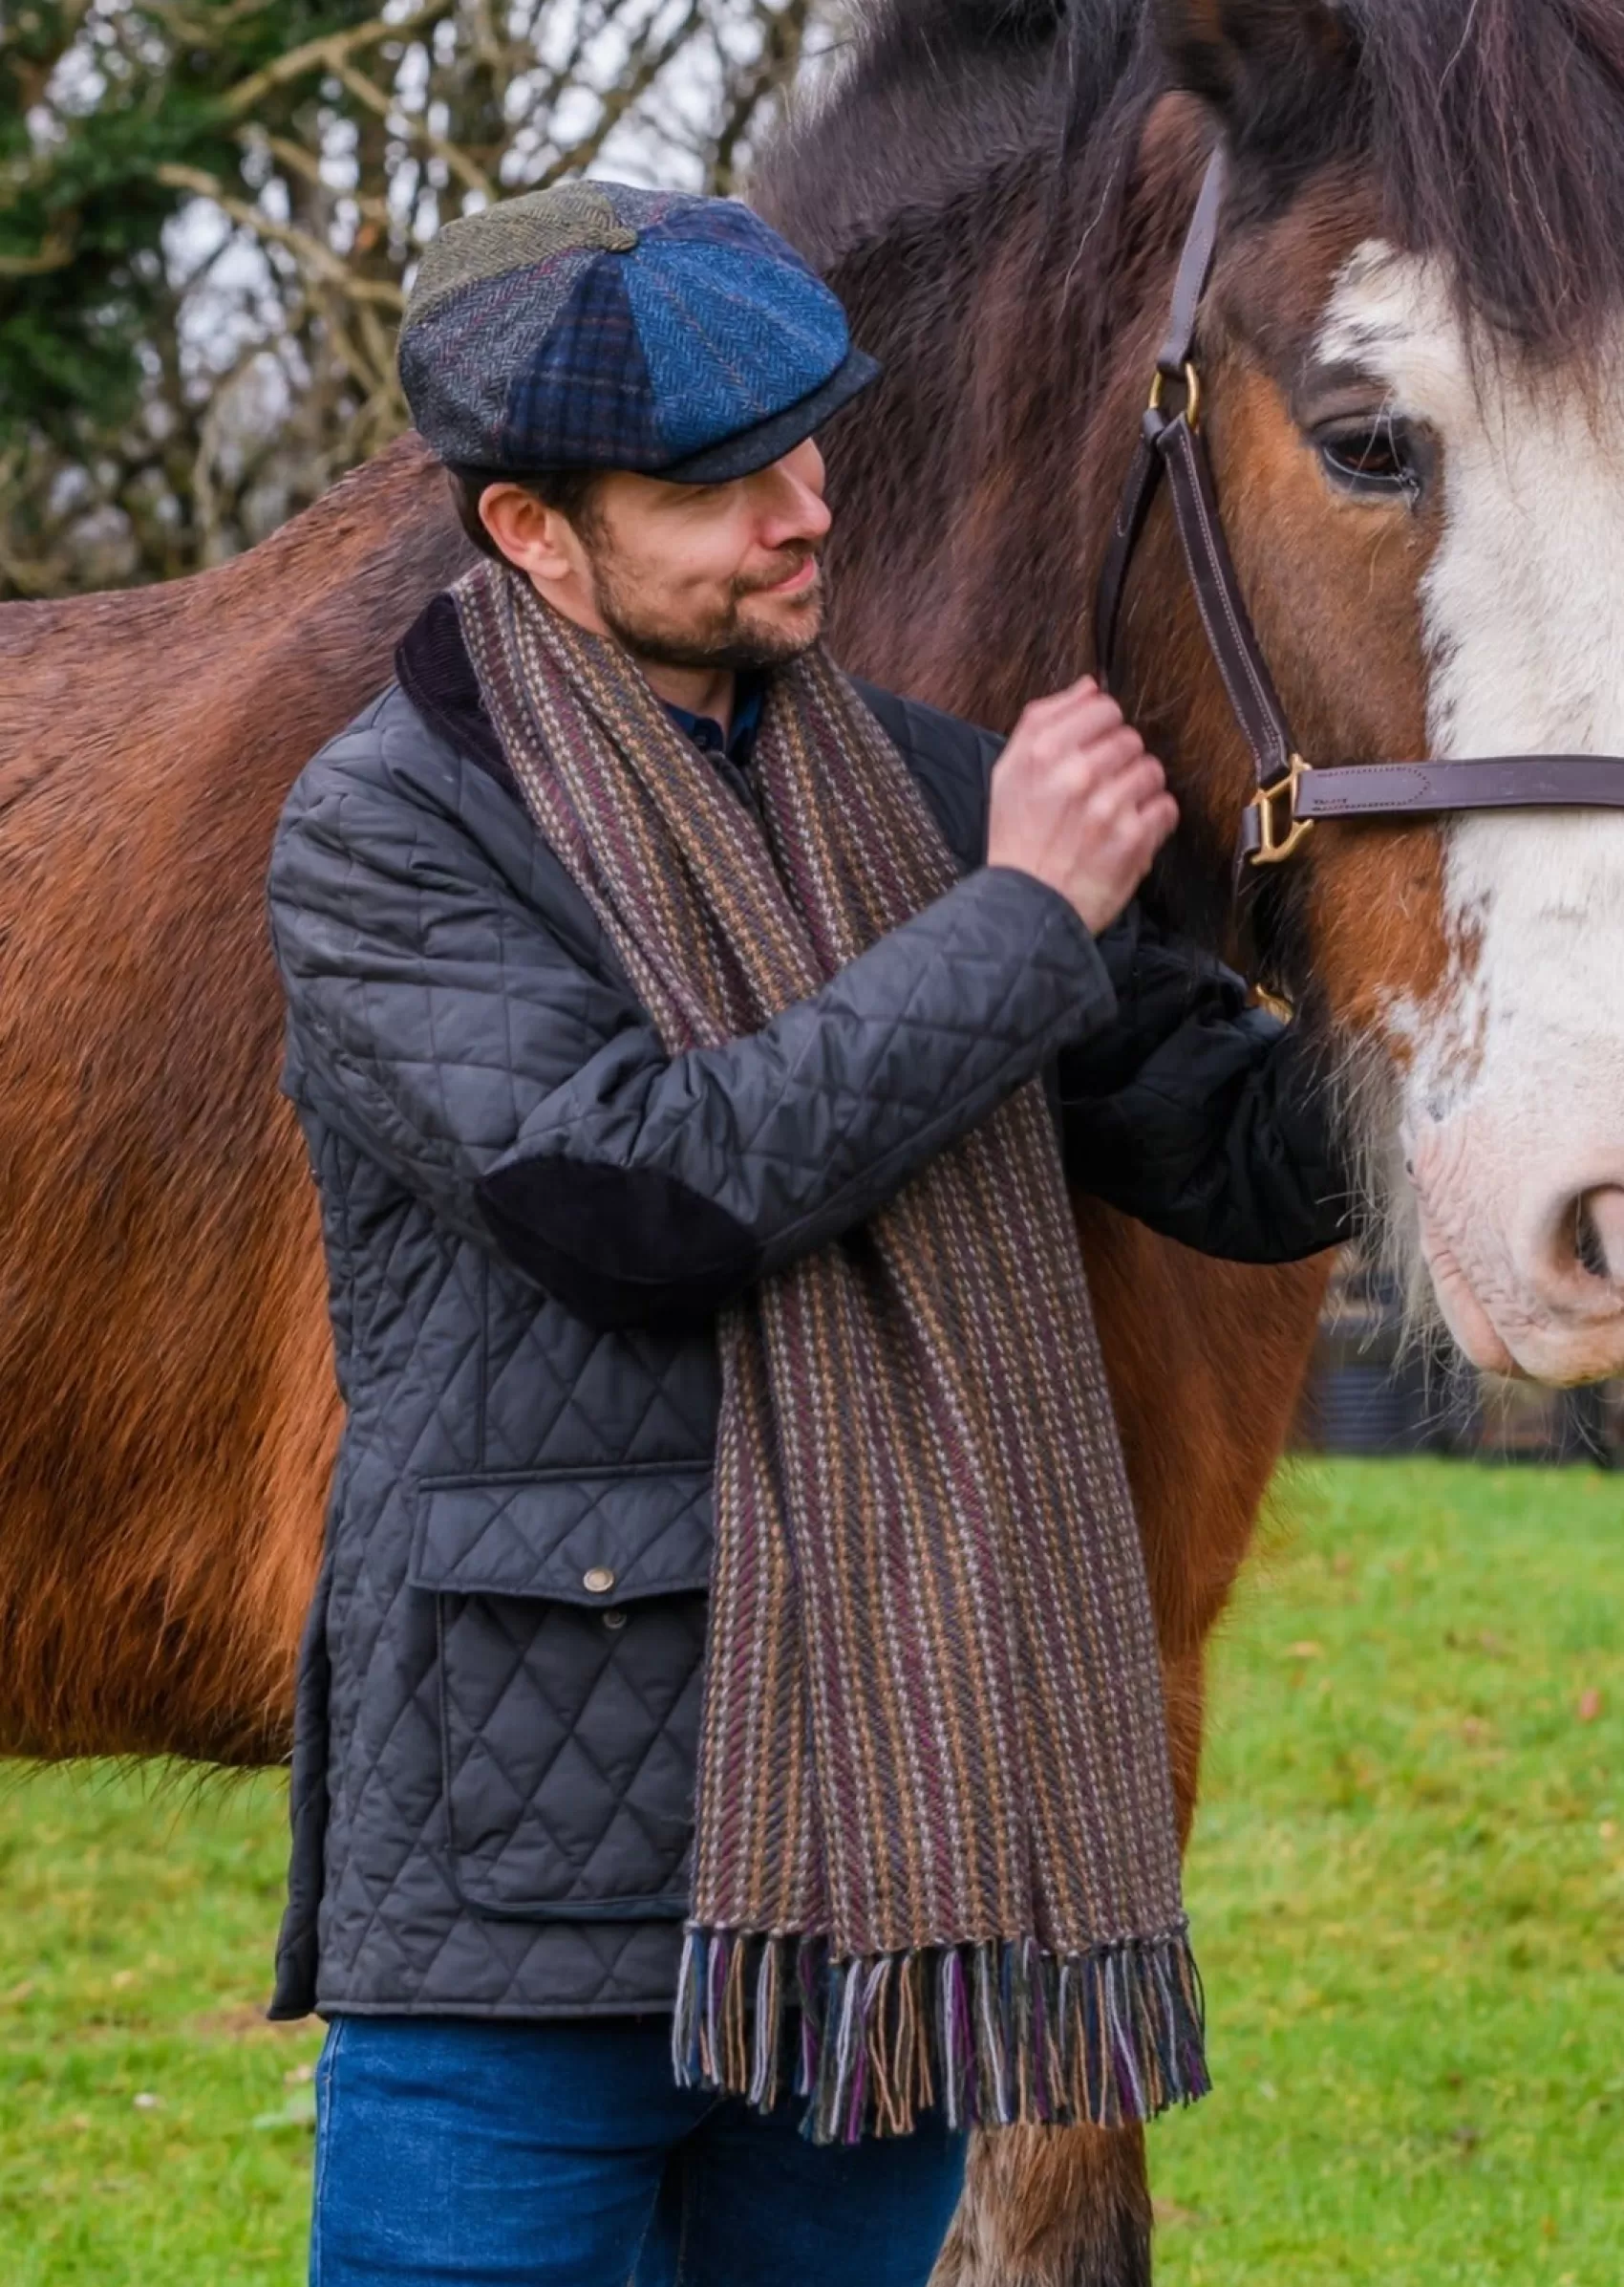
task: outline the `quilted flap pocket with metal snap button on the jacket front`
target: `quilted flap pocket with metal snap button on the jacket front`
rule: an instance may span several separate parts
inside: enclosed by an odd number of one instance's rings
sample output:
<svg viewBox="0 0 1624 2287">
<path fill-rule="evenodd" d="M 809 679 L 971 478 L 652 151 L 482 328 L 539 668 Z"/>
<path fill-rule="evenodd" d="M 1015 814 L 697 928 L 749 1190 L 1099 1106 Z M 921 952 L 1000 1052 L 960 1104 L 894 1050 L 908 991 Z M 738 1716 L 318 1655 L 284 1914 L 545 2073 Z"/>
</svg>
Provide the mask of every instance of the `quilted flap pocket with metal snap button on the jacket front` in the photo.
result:
<svg viewBox="0 0 1624 2287">
<path fill-rule="evenodd" d="M 425 1480 L 453 1875 L 535 1921 L 688 1910 L 711 1468 Z"/>
</svg>

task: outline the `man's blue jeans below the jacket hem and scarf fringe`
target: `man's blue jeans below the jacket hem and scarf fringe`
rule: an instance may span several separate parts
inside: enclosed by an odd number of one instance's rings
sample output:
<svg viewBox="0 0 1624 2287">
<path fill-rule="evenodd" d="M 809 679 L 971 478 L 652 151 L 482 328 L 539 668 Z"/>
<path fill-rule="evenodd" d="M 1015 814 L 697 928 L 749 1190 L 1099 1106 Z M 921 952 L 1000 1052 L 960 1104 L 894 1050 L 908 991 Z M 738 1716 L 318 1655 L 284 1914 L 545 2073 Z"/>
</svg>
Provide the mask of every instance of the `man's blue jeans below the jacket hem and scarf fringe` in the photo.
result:
<svg viewBox="0 0 1624 2287">
<path fill-rule="evenodd" d="M 814 2147 L 682 2090 L 668 2017 L 341 2017 L 311 2287 L 924 2287 L 965 2141 Z"/>
</svg>

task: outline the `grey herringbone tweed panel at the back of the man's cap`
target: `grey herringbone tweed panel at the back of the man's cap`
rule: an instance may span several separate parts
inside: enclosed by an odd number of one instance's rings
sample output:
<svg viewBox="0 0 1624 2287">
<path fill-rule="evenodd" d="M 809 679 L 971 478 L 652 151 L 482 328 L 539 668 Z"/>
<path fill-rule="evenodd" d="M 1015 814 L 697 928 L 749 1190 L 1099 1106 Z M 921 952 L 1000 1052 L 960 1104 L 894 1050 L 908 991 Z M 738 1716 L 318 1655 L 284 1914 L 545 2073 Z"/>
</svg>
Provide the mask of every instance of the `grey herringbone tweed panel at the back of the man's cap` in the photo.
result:
<svg viewBox="0 0 1624 2287">
<path fill-rule="evenodd" d="M 400 329 L 400 387 L 441 460 L 503 464 L 510 387 L 602 261 L 583 249 L 448 288 Z"/>
</svg>

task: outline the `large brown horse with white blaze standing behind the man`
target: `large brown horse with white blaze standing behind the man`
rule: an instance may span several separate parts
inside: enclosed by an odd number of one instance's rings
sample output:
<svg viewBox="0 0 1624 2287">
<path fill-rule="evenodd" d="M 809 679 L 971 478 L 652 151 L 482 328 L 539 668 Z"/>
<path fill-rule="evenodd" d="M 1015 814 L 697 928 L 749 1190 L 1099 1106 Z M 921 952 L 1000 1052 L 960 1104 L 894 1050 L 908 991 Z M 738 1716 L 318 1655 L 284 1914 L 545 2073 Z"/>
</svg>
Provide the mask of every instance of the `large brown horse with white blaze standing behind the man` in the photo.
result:
<svg viewBox="0 0 1624 2287">
<path fill-rule="evenodd" d="M 1313 762 L 1617 748 L 1624 18 L 1610 0 L 876 0 L 755 199 L 885 364 L 830 432 L 837 656 L 1009 727 L 1089 599 L 1208 151 L 1203 435 Z M 467 563 L 412 439 L 249 556 L 0 611 L 0 1747 L 286 1752 L 339 1402 L 261 876 L 307 755 Z M 1164 503 L 1116 686 L 1148 897 L 1322 1043 L 1372 1224 L 1480 1365 L 1624 1365 L 1624 821 L 1322 826 L 1253 791 Z M 1324 1267 L 1077 1201 L 1194 1816 L 1203 1649 Z M 1430 1299 L 1427 1299 L 1430 1297 Z M 1144 2287 L 1137 2134 L 1002 2131 L 942 2287 Z"/>
</svg>

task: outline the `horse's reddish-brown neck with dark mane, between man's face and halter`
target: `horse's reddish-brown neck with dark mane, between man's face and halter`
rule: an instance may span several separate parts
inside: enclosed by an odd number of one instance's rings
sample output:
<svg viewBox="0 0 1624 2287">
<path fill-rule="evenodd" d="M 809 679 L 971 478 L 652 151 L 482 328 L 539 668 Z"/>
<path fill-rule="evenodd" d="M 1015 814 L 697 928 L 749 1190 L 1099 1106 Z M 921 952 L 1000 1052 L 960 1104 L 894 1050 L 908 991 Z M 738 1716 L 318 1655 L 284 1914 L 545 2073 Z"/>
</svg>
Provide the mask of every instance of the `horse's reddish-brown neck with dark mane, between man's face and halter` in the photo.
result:
<svg viewBox="0 0 1624 2287">
<path fill-rule="evenodd" d="M 1160 85 L 1141 0 L 881 0 L 753 185 L 885 368 L 833 439 L 837 656 L 995 727 L 1082 666 L 1080 423 L 1185 199 L 1128 194 Z"/>
</svg>

